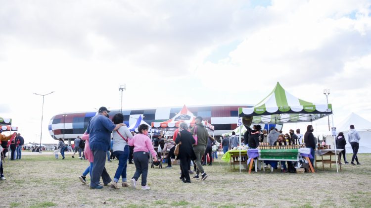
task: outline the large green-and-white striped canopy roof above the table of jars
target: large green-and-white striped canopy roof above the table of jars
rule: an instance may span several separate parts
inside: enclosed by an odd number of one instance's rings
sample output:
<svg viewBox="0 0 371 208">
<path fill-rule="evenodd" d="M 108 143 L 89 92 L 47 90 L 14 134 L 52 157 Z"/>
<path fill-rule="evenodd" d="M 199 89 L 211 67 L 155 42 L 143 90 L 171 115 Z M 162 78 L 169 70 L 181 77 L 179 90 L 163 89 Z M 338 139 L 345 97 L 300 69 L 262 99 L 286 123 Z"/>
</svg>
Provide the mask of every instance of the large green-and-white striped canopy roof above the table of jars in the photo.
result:
<svg viewBox="0 0 371 208">
<path fill-rule="evenodd" d="M 252 117 L 252 123 L 311 122 L 332 113 L 331 104 L 314 104 L 298 99 L 277 82 L 273 91 L 253 107 L 238 108 L 240 117 Z"/>
</svg>

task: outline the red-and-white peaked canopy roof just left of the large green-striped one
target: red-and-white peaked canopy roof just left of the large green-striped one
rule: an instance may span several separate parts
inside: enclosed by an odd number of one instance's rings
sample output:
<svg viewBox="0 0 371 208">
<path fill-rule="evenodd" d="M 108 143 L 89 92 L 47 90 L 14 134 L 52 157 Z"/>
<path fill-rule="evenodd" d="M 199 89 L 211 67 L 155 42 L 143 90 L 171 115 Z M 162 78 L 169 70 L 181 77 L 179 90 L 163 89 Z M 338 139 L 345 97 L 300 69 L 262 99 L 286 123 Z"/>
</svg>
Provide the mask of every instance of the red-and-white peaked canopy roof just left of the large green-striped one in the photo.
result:
<svg viewBox="0 0 371 208">
<path fill-rule="evenodd" d="M 184 105 L 182 110 L 177 113 L 173 118 L 164 122 L 152 122 L 152 128 L 178 128 L 181 122 L 185 122 L 192 127 L 195 125 L 194 119 L 196 116 L 193 115 L 191 111 Z M 214 131 L 214 126 L 212 126 L 207 121 L 202 121 L 202 124 L 209 130 Z"/>
</svg>

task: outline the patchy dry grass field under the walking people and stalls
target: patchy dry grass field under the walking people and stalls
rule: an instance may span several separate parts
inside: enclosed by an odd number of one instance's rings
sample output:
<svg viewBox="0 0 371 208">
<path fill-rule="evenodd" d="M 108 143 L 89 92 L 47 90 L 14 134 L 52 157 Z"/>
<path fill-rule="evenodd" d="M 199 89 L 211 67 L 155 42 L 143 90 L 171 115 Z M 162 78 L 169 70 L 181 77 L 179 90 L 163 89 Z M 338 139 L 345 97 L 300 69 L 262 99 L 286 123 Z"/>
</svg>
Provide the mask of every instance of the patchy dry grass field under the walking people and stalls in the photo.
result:
<svg viewBox="0 0 371 208">
<path fill-rule="evenodd" d="M 343 165 L 339 173 L 328 164 L 322 171 L 320 164 L 315 174 L 275 170 L 249 175 L 231 170 L 220 158 L 205 167 L 209 175 L 205 181 L 192 180 L 190 184 L 179 180 L 178 165 L 149 168 L 149 191 L 122 187 L 91 190 L 78 179 L 88 161 L 71 156 L 65 160 L 54 156 L 6 160 L 0 207 L 371 207 L 371 154 L 360 154 L 362 165 Z M 111 178 L 117 164 L 117 160 L 106 163 Z M 134 170 L 129 164 L 128 179 Z"/>
</svg>

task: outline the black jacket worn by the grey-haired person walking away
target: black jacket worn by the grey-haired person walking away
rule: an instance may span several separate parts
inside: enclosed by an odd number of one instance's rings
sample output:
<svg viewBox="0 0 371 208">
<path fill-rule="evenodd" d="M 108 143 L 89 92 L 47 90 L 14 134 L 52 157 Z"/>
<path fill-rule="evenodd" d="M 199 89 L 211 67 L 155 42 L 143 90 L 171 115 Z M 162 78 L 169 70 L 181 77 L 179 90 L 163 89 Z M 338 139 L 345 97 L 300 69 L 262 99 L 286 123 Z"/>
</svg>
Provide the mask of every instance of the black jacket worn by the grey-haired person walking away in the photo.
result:
<svg viewBox="0 0 371 208">
<path fill-rule="evenodd" d="M 196 142 L 187 130 L 182 130 L 179 132 L 177 139 L 175 140 L 176 144 L 182 142 L 179 147 L 179 155 L 177 159 L 190 157 L 191 160 L 196 159 L 196 155 L 193 152 L 193 144 Z"/>
</svg>

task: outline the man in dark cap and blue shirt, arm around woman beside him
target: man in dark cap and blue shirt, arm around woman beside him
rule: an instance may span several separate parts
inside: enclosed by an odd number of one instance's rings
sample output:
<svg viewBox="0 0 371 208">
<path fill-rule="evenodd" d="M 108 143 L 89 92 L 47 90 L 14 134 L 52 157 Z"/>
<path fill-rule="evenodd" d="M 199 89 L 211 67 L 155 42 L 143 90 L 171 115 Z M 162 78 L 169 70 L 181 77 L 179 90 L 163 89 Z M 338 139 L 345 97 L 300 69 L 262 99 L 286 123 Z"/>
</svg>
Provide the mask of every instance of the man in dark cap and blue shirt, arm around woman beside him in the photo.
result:
<svg viewBox="0 0 371 208">
<path fill-rule="evenodd" d="M 106 107 L 100 107 L 98 114 L 89 121 L 87 128 L 87 133 L 89 134 L 89 145 L 94 156 L 90 183 L 91 189 L 103 188 L 103 186 L 99 185 L 100 176 L 102 177 L 104 185 L 108 185 L 112 181 L 104 167 L 107 150 L 109 149 L 111 142 L 111 132 L 119 129 L 124 124 L 113 124 L 113 122 L 108 118 L 109 112 L 110 111 Z"/>
</svg>

